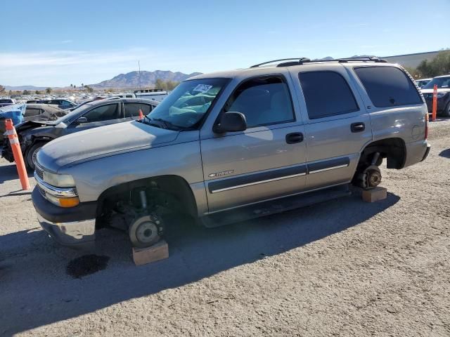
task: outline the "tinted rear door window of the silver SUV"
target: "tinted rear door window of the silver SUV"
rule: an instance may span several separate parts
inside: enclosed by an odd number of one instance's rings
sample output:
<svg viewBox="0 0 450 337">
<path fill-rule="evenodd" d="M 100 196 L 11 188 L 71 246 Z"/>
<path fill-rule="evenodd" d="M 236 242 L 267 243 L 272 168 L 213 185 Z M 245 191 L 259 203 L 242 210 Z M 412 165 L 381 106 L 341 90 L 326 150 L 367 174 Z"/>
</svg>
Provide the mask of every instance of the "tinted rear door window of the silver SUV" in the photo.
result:
<svg viewBox="0 0 450 337">
<path fill-rule="evenodd" d="M 298 77 L 309 119 L 359 110 L 347 81 L 337 72 L 300 72 Z"/>
</svg>

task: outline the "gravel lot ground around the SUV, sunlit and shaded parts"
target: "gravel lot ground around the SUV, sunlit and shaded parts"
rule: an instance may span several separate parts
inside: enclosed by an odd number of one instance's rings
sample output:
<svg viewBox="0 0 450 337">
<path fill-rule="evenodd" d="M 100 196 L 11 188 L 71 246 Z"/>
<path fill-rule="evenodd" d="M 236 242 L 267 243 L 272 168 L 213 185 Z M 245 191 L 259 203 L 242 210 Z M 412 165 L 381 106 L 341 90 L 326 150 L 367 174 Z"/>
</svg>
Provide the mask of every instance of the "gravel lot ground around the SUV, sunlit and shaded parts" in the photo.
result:
<svg viewBox="0 0 450 337">
<path fill-rule="evenodd" d="M 450 336 L 449 120 L 432 123 L 430 143 L 425 162 L 382 170 L 384 201 L 181 223 L 169 259 L 141 267 L 115 230 L 91 252 L 54 244 L 0 161 L 0 335 Z M 68 275 L 86 253 L 108 265 Z"/>
</svg>

